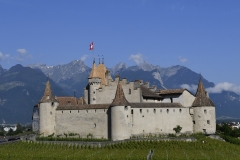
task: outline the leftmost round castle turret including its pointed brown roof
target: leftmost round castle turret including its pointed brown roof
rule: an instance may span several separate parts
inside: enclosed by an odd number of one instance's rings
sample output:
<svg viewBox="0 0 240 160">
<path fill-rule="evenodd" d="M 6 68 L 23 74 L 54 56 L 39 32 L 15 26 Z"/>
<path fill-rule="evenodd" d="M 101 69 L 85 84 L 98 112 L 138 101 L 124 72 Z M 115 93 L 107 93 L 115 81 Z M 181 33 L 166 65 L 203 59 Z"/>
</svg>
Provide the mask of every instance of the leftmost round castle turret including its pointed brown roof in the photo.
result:
<svg viewBox="0 0 240 160">
<path fill-rule="evenodd" d="M 55 113 L 58 102 L 55 99 L 49 80 L 46 83 L 45 91 L 39 102 L 39 133 L 44 136 L 55 133 Z"/>
</svg>

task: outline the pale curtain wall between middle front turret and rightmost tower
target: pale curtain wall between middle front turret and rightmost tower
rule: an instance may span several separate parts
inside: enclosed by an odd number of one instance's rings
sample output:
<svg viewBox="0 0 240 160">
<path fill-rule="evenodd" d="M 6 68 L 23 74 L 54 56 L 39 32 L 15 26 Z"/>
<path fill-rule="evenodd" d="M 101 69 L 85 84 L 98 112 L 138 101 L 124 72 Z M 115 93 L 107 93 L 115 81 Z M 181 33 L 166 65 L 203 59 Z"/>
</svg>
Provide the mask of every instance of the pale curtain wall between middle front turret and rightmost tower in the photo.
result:
<svg viewBox="0 0 240 160">
<path fill-rule="evenodd" d="M 189 108 L 132 108 L 132 134 L 175 133 L 173 128 L 182 127 L 181 133 L 193 132 Z M 142 113 L 140 112 L 142 110 Z M 155 112 L 154 112 L 155 109 Z M 168 113 L 167 113 L 168 109 Z M 180 112 L 181 109 L 181 112 Z"/>
</svg>

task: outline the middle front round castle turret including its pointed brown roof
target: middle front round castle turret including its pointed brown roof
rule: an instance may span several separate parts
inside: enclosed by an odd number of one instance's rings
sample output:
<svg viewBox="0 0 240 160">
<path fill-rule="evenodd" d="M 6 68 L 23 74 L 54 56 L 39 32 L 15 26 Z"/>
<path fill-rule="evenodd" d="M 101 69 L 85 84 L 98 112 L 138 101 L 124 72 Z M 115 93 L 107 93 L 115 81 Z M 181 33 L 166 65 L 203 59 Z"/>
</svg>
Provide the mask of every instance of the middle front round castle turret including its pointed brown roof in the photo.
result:
<svg viewBox="0 0 240 160">
<path fill-rule="evenodd" d="M 120 83 L 111 104 L 111 138 L 113 141 L 129 139 L 131 136 L 130 103 L 126 100 Z"/>
</svg>

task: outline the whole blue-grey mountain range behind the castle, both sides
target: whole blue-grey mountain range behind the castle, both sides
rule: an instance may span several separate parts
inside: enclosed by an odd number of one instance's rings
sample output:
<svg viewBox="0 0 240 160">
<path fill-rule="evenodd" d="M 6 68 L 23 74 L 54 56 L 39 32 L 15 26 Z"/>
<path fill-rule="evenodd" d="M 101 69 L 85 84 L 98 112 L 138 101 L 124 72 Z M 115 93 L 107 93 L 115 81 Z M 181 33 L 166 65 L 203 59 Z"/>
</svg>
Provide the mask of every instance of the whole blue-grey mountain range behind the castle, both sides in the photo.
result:
<svg viewBox="0 0 240 160">
<path fill-rule="evenodd" d="M 185 85 L 197 85 L 202 77 L 205 88 L 214 87 L 202 75 L 184 66 L 163 68 L 143 62 L 128 67 L 118 63 L 112 68 L 112 77 L 120 75 L 128 81 L 142 79 L 159 89 L 181 88 Z M 81 60 L 68 64 L 47 66 L 32 64 L 28 67 L 16 65 L 9 70 L 0 66 L 0 119 L 7 123 L 31 122 L 32 108 L 38 103 L 45 89 L 47 77 L 57 96 L 83 96 L 83 89 L 88 83 L 91 68 Z M 190 90 L 195 95 L 194 90 Z M 210 93 L 210 98 L 216 105 L 217 117 L 239 117 L 240 96 L 234 92 Z"/>
</svg>

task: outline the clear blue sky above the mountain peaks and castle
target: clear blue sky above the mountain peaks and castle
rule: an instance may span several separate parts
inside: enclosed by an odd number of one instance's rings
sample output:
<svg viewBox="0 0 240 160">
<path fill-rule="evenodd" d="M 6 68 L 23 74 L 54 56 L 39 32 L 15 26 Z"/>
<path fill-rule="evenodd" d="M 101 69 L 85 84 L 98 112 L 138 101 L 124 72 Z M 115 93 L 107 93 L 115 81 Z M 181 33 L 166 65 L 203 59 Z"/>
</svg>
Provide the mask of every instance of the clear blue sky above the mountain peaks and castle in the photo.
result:
<svg viewBox="0 0 240 160">
<path fill-rule="evenodd" d="M 183 65 L 240 85 L 240 1 L 0 0 L 0 64 Z M 131 55 L 138 57 L 131 59 Z"/>
</svg>

